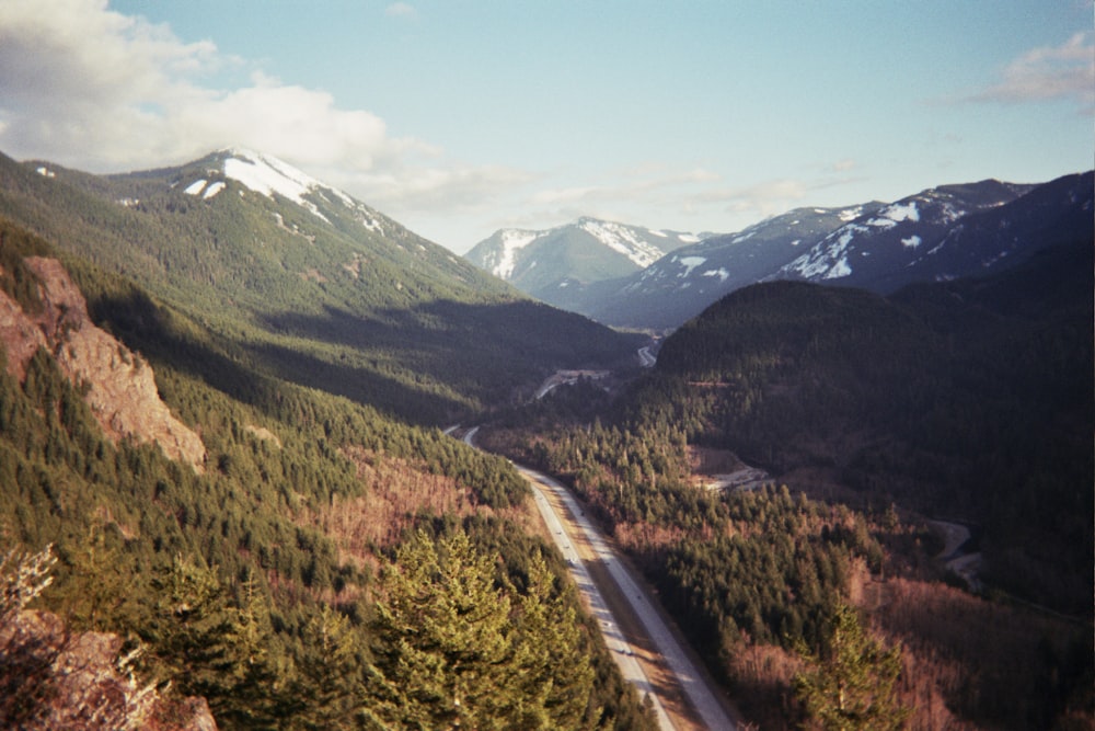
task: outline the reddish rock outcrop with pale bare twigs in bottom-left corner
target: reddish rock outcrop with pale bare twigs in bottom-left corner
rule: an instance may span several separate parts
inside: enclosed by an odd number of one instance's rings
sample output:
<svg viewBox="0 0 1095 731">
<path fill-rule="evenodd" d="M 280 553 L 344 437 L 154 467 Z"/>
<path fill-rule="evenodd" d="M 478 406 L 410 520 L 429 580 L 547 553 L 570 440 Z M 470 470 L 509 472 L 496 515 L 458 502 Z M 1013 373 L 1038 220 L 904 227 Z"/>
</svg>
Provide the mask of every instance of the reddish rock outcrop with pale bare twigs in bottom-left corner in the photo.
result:
<svg viewBox="0 0 1095 731">
<path fill-rule="evenodd" d="M 216 731 L 204 698 L 169 700 L 141 686 L 105 632 L 70 633 L 56 615 L 24 610 L 0 627 L 0 723 L 20 729 Z M 170 720 L 166 720 L 170 719 Z"/>
</svg>

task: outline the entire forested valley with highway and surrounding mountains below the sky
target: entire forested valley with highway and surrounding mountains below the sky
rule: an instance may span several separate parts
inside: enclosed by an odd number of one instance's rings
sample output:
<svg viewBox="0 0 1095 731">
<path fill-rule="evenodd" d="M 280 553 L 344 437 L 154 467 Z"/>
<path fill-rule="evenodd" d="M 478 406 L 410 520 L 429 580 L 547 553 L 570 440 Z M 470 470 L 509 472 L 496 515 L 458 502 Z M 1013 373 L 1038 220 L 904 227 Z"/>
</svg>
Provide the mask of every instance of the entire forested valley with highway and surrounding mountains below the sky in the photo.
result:
<svg viewBox="0 0 1095 731">
<path fill-rule="evenodd" d="M 265 153 L 2 157 L 3 616 L 140 647 L 163 731 L 794 728 L 849 636 L 867 728 L 1084 728 L 1092 209 L 499 233 L 534 299 Z"/>
</svg>

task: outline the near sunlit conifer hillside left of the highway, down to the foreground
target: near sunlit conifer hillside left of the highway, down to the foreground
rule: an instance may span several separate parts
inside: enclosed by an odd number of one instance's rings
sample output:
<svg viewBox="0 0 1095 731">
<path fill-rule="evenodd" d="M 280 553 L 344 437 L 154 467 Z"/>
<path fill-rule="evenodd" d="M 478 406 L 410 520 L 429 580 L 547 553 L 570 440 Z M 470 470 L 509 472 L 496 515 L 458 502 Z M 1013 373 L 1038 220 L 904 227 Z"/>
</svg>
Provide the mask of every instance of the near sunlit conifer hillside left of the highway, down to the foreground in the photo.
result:
<svg viewBox="0 0 1095 731">
<path fill-rule="evenodd" d="M 252 369 L 192 312 L 113 321 L 150 296 L 68 254 L 93 322 L 57 255 L 0 220 L 0 726 L 653 728 L 505 460 Z M 104 429 L 89 353 L 204 454 Z"/>
</svg>

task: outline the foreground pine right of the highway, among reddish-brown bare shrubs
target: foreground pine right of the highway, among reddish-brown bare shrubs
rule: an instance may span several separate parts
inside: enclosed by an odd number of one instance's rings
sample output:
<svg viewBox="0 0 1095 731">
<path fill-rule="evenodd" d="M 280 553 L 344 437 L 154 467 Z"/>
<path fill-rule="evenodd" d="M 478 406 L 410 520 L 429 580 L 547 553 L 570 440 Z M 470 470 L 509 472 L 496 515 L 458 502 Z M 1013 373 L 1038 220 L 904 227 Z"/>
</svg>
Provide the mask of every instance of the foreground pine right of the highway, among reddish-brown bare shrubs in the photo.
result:
<svg viewBox="0 0 1095 731">
<path fill-rule="evenodd" d="M 795 690 L 811 721 L 826 731 L 903 726 L 909 710 L 895 695 L 901 647 L 885 649 L 861 627 L 852 607 L 837 607 L 820 654 L 804 654 L 810 669 L 795 676 Z"/>
</svg>

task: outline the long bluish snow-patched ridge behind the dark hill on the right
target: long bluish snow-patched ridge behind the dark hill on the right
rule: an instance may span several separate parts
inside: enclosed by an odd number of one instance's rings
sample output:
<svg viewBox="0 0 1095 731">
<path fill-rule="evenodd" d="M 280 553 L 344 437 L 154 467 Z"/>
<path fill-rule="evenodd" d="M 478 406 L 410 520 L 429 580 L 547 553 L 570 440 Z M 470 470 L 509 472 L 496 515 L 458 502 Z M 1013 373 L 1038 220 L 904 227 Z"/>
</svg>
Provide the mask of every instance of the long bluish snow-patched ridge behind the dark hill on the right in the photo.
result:
<svg viewBox="0 0 1095 731">
<path fill-rule="evenodd" d="M 798 208 L 667 254 L 627 277 L 570 293 L 574 311 L 611 325 L 671 329 L 756 282 L 799 279 L 892 293 L 982 275 L 1091 228 L 1092 174 L 1041 185 L 988 180 L 895 203 Z"/>
</svg>

